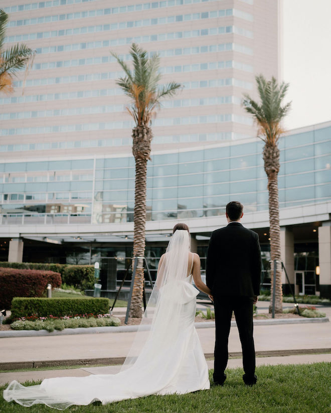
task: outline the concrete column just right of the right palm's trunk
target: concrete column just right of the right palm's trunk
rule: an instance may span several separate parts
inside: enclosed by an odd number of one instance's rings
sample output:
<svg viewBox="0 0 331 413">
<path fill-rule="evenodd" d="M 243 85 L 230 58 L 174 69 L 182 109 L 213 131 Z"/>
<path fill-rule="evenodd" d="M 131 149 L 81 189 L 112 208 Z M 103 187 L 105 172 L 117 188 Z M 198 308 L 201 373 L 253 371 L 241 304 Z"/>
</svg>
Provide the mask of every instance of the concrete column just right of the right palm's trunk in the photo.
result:
<svg viewBox="0 0 331 413">
<path fill-rule="evenodd" d="M 292 291 L 294 291 L 294 237 L 293 232 L 286 227 L 280 228 L 280 253 Z M 290 289 L 284 271 L 282 272 L 282 286 L 283 293 L 289 294 Z"/>
</svg>

